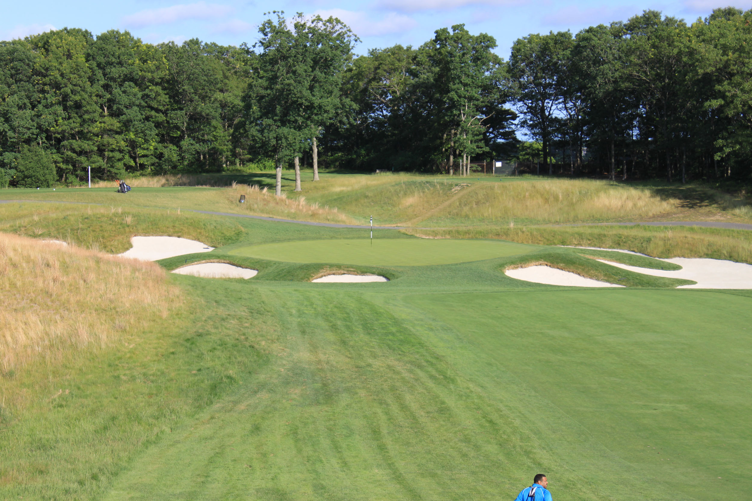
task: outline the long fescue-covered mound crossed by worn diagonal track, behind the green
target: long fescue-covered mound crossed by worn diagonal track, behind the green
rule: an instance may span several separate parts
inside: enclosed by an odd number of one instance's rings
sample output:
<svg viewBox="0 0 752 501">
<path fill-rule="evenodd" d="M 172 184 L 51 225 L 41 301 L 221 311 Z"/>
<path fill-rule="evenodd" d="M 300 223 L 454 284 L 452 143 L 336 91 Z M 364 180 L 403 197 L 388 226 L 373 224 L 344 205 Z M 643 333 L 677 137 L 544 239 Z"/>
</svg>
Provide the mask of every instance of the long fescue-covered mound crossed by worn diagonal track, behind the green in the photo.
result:
<svg viewBox="0 0 752 501">
<path fill-rule="evenodd" d="M 326 201 L 353 216 L 370 213 L 404 225 L 599 222 L 647 219 L 669 214 L 678 200 L 650 189 L 597 180 L 505 180 L 360 177 L 317 186 Z"/>
</svg>

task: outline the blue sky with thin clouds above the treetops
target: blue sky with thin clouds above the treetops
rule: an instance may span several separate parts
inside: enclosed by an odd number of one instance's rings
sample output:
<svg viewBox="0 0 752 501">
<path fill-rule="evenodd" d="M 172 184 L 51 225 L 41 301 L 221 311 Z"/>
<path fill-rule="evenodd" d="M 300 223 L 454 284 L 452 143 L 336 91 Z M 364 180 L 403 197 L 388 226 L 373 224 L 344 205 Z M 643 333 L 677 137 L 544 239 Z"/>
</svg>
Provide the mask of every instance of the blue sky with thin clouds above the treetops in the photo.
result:
<svg viewBox="0 0 752 501">
<path fill-rule="evenodd" d="M 653 2 L 603 2 L 589 0 L 38 0 L 30 4 L 3 2 L 0 39 L 60 29 L 89 29 L 95 35 L 108 29 L 128 29 L 142 40 L 158 43 L 200 38 L 219 44 L 253 44 L 256 26 L 267 11 L 287 15 L 333 15 L 349 24 L 361 38 L 357 53 L 393 44 L 422 44 L 435 29 L 465 23 L 473 32 L 486 32 L 499 43 L 497 53 L 508 58 L 514 40 L 529 33 L 570 29 L 626 20 L 644 9 L 692 22 L 713 8 L 735 5 L 749 9 L 752 2 L 731 0 L 655 0 Z"/>
</svg>

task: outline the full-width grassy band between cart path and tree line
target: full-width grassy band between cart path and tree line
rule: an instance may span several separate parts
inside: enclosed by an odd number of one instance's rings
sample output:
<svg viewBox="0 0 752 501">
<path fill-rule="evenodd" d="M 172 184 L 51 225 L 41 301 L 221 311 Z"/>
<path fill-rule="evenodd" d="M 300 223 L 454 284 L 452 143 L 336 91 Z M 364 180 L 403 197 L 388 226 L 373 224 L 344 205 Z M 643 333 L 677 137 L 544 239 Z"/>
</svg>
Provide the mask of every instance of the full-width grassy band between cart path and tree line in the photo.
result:
<svg viewBox="0 0 752 501">
<path fill-rule="evenodd" d="M 305 176 L 307 177 L 307 176 Z M 242 181 L 234 183 L 234 180 Z M 569 222 L 749 221 L 746 195 L 732 196 L 709 186 L 540 178 L 435 177 L 414 174 L 373 176 L 326 174 L 304 180 L 293 192 L 289 172 L 282 198 L 268 173 L 176 175 L 137 178 L 127 195 L 102 189 L 3 190 L 0 198 L 32 198 L 247 213 L 315 222 L 451 227 L 532 225 Z M 99 185 L 98 185 L 99 186 Z M 110 186 L 111 189 L 105 189 Z M 193 186 L 193 187 L 190 187 Z M 246 204 L 239 204 L 246 195 Z M 263 196 L 262 196 L 263 195 Z"/>
</svg>

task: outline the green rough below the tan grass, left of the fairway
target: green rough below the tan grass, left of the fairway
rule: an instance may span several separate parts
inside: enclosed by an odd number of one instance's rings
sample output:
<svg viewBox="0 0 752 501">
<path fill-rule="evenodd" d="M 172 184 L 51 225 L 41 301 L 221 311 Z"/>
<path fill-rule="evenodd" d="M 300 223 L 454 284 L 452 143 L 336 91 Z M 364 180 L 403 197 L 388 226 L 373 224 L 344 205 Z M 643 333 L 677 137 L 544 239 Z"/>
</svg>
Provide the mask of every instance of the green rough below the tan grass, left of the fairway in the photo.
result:
<svg viewBox="0 0 752 501">
<path fill-rule="evenodd" d="M 111 346 L 0 376 L 0 499 L 101 499 L 144 450 L 276 355 L 264 299 L 217 304 L 217 289 L 183 288 L 168 318 L 138 318 Z"/>
</svg>

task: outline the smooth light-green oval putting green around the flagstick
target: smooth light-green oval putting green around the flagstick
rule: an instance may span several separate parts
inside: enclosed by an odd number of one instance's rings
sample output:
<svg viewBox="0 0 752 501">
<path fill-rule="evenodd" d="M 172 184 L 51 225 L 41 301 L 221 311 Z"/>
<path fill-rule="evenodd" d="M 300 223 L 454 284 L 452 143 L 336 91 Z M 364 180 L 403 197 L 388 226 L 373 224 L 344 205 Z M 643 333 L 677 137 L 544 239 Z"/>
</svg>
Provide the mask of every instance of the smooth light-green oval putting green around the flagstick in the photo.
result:
<svg viewBox="0 0 752 501">
<path fill-rule="evenodd" d="M 536 248 L 493 240 L 423 238 L 307 240 L 266 243 L 229 252 L 249 258 L 291 263 L 343 263 L 378 266 L 426 266 L 526 254 Z"/>
</svg>

